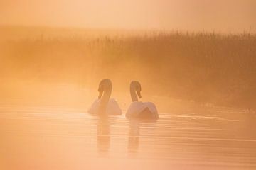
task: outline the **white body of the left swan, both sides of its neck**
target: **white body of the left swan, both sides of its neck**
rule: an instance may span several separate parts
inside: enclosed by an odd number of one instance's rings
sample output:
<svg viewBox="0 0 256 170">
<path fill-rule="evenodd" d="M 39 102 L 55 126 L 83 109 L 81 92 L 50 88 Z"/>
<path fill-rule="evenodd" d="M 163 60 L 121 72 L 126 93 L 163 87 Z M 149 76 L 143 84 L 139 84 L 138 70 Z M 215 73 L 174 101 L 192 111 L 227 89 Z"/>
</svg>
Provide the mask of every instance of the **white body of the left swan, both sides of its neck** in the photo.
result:
<svg viewBox="0 0 256 170">
<path fill-rule="evenodd" d="M 93 103 L 90 109 L 88 110 L 88 113 L 91 115 L 97 115 L 99 112 L 100 108 L 100 99 L 96 99 Z M 110 98 L 110 101 L 107 103 L 107 108 L 106 108 L 106 114 L 107 115 L 122 115 L 122 110 L 118 106 L 118 103 L 114 98 Z"/>
</svg>

